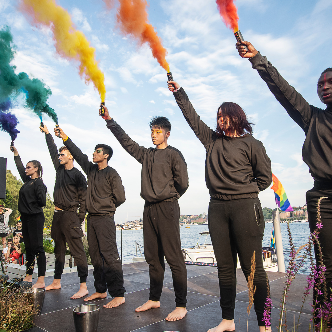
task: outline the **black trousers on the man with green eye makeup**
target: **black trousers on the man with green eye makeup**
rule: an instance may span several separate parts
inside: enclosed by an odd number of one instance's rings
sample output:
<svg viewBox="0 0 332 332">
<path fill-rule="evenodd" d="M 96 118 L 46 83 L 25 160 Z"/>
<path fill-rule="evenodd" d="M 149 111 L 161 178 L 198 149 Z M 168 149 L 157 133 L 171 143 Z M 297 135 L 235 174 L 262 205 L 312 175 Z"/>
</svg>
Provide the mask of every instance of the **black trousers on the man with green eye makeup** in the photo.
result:
<svg viewBox="0 0 332 332">
<path fill-rule="evenodd" d="M 94 267 L 95 289 L 112 297 L 124 296 L 124 275 L 118 253 L 114 216 L 88 215 L 89 254 Z"/>
</svg>

